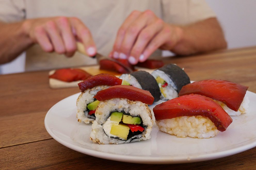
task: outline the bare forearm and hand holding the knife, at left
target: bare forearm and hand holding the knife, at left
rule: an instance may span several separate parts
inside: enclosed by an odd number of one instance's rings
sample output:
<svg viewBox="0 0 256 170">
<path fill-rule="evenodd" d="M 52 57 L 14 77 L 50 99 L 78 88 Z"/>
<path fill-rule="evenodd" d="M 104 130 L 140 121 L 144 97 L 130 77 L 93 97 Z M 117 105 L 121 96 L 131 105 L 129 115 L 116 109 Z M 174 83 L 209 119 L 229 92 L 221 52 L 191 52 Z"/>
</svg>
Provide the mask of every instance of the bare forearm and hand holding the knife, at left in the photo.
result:
<svg viewBox="0 0 256 170">
<path fill-rule="evenodd" d="M 75 17 L 29 19 L 15 23 L 0 22 L 0 64 L 13 60 L 38 43 L 46 52 L 72 56 L 76 41 L 81 41 L 89 56 L 96 53 L 90 30 Z"/>
</svg>

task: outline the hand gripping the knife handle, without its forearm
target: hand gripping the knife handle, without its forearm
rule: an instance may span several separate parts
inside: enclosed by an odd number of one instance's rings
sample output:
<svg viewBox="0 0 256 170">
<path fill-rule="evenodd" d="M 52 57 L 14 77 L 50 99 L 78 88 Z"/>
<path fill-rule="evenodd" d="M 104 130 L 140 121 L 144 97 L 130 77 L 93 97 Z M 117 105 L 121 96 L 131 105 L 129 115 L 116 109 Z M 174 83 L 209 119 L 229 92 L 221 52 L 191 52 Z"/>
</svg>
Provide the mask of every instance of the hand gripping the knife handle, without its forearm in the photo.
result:
<svg viewBox="0 0 256 170">
<path fill-rule="evenodd" d="M 37 18 L 24 21 L 26 34 L 46 52 L 57 52 L 70 57 L 77 46 L 76 41 L 84 44 L 87 55 L 96 54 L 96 46 L 90 30 L 76 17 Z"/>
</svg>

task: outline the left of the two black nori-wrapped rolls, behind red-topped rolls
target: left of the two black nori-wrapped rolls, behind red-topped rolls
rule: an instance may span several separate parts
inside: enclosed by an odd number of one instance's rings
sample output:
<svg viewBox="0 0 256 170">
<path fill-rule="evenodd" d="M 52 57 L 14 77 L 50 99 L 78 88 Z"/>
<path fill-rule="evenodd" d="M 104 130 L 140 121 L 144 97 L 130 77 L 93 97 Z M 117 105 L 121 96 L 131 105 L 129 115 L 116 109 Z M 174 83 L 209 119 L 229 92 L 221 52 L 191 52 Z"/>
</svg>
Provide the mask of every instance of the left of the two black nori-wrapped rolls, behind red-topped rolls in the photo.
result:
<svg viewBox="0 0 256 170">
<path fill-rule="evenodd" d="M 119 78 L 123 85 L 131 85 L 149 91 L 154 97 L 154 102 L 160 100 L 160 89 L 155 78 L 146 71 L 134 71 L 130 74 L 122 74 Z"/>
</svg>

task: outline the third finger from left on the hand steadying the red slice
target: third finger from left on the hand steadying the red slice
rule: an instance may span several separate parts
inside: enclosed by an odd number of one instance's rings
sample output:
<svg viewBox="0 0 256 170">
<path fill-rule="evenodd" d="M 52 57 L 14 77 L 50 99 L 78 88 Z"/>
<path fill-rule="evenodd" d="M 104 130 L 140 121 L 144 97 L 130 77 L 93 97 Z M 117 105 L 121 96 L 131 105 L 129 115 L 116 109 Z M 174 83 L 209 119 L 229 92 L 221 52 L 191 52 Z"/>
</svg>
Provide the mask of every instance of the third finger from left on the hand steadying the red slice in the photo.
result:
<svg viewBox="0 0 256 170">
<path fill-rule="evenodd" d="M 139 33 L 138 38 L 132 47 L 130 57 L 128 58 L 128 61 L 131 64 L 137 64 L 138 61 L 141 62 L 142 60 L 144 60 L 142 52 L 146 48 L 149 41 L 153 39 L 154 36 L 158 34 L 158 32 L 163 28 L 163 24 L 163 20 L 158 19 L 155 22 L 148 25 Z"/>
</svg>

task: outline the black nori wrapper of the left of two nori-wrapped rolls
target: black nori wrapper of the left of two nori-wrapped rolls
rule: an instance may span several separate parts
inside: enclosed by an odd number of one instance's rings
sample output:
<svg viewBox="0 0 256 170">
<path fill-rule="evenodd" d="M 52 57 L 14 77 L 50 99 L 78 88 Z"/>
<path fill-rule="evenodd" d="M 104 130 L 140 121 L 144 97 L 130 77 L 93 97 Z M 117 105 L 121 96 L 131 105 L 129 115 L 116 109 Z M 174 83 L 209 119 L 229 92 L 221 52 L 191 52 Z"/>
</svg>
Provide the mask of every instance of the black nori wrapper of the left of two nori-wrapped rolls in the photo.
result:
<svg viewBox="0 0 256 170">
<path fill-rule="evenodd" d="M 137 79 L 143 90 L 147 90 L 152 94 L 154 102 L 160 100 L 160 88 L 151 74 L 146 71 L 134 71 L 131 75 Z"/>
</svg>

